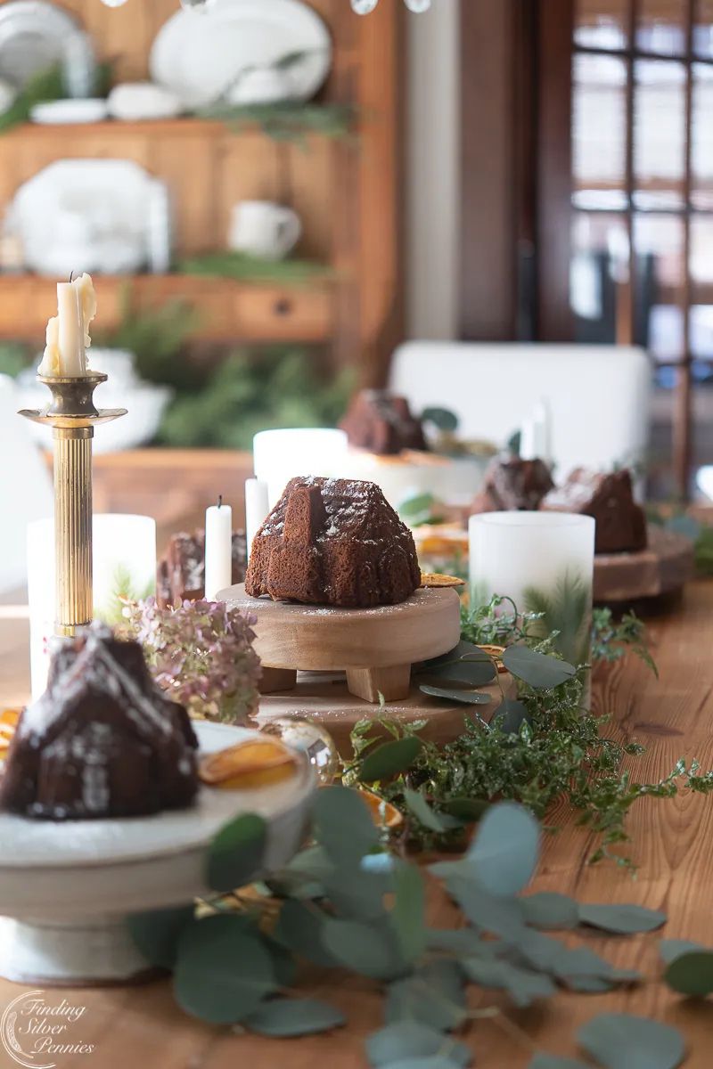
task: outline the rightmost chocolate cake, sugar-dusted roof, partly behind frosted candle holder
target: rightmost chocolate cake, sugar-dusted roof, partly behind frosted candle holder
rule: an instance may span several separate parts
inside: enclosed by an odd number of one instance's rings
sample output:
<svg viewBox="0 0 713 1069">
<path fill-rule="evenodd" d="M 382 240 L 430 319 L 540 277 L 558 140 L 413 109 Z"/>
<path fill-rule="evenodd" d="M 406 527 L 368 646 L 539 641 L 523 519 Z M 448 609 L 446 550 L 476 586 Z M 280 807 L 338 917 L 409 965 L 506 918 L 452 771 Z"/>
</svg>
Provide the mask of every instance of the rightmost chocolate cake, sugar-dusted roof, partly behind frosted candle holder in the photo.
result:
<svg viewBox="0 0 713 1069">
<path fill-rule="evenodd" d="M 607 475 L 576 468 L 563 486 L 547 494 L 541 508 L 593 516 L 594 553 L 632 553 L 647 546 L 646 515 L 634 500 L 632 477 L 625 468 Z"/>
</svg>

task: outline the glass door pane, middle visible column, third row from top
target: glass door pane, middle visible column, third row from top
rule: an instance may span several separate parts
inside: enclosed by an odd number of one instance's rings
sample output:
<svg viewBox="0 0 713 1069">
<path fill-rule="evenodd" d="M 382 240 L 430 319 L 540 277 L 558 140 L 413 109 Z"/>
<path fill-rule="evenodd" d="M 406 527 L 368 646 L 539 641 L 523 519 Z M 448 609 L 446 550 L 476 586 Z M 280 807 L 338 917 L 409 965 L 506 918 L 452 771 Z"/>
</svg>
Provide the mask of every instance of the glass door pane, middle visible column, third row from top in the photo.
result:
<svg viewBox="0 0 713 1069">
<path fill-rule="evenodd" d="M 637 274 L 637 312 L 647 343 L 656 360 L 683 356 L 683 314 L 679 307 L 683 285 L 683 220 L 671 215 L 634 217 Z"/>
</svg>

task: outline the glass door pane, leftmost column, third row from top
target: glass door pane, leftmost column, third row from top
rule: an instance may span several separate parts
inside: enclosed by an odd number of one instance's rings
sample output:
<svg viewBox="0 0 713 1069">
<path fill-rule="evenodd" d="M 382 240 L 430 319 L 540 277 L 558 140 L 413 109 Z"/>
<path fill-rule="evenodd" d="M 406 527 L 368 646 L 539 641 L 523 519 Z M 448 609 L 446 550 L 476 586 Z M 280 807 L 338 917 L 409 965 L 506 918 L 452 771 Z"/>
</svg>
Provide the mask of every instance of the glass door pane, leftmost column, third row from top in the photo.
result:
<svg viewBox="0 0 713 1069">
<path fill-rule="evenodd" d="M 629 301 L 629 235 L 623 215 L 577 212 L 572 228 L 570 305 L 575 340 L 611 343 Z"/>
</svg>

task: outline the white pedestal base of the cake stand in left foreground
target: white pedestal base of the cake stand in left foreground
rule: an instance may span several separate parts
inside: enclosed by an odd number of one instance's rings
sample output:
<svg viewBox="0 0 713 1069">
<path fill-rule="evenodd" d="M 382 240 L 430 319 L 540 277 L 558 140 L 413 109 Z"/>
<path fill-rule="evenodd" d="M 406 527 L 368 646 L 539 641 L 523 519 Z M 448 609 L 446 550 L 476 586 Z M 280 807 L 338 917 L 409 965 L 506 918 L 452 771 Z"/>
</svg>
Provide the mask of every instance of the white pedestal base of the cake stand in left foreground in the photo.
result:
<svg viewBox="0 0 713 1069">
<path fill-rule="evenodd" d="M 92 925 L 0 917 L 0 976 L 15 983 L 79 987 L 125 983 L 154 974 L 122 917 Z"/>
</svg>

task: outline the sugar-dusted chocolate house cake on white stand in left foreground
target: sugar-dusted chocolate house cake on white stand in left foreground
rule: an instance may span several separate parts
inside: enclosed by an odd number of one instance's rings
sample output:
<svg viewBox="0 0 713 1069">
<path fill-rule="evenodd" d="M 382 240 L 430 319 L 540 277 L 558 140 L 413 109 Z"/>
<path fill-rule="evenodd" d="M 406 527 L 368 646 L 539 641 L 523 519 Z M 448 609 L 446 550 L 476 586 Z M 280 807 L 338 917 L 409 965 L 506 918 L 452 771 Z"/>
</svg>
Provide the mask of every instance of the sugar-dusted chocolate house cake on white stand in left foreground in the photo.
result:
<svg viewBox="0 0 713 1069">
<path fill-rule="evenodd" d="M 140 817 L 192 803 L 198 740 L 151 679 L 141 646 L 93 625 L 63 639 L 21 714 L 0 808 L 41 820 Z"/>
</svg>

